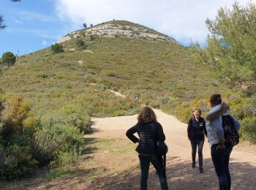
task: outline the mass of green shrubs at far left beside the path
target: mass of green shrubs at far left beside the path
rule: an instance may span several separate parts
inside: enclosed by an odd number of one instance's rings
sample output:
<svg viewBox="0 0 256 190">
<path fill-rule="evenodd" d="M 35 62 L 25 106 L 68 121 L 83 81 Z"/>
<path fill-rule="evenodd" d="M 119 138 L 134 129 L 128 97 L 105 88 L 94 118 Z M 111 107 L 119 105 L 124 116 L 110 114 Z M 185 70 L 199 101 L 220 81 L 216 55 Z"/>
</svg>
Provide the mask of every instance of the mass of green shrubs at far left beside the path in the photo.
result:
<svg viewBox="0 0 256 190">
<path fill-rule="evenodd" d="M 61 108 L 62 118 L 37 118 L 30 115 L 28 102 L 20 96 L 11 96 L 6 102 L 2 97 L 0 100 L 1 180 L 28 177 L 38 164 L 51 161 L 64 166 L 78 159 L 84 145 L 80 131 L 91 129 L 90 118 L 84 117 L 83 121 L 72 118 L 76 114 L 72 105 Z"/>
</svg>

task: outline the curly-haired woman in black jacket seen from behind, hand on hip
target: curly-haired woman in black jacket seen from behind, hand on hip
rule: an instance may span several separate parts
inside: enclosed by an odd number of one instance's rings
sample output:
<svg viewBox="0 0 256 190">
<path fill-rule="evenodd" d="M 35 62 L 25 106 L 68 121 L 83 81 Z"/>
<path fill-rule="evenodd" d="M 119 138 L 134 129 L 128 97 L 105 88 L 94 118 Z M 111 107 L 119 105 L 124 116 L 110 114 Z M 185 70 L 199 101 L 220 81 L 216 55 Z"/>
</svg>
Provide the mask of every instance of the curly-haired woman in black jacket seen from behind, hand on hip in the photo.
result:
<svg viewBox="0 0 256 190">
<path fill-rule="evenodd" d="M 135 133 L 138 137 L 135 137 Z M 153 164 L 157 170 L 161 189 L 168 189 L 167 180 L 164 175 L 164 167 L 157 156 L 157 141 L 165 141 L 162 126 L 157 122 L 157 117 L 150 107 L 143 107 L 138 115 L 138 123 L 127 131 L 127 137 L 132 142 L 138 142 L 136 148 L 140 159 L 140 189 L 147 189 L 149 164 Z"/>
</svg>

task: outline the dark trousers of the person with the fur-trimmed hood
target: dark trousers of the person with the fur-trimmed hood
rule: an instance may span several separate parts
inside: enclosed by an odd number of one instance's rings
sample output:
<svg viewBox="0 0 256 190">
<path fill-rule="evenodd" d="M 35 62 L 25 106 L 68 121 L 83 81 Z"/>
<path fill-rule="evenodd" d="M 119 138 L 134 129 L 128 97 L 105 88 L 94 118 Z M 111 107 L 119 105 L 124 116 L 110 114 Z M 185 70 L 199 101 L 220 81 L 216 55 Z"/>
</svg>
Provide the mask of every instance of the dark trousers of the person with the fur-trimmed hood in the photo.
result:
<svg viewBox="0 0 256 190">
<path fill-rule="evenodd" d="M 231 177 L 228 164 L 230 161 L 230 153 L 233 147 L 219 148 L 217 145 L 211 145 L 211 159 L 214 162 L 215 172 L 219 178 L 219 189 L 230 190 Z"/>
</svg>

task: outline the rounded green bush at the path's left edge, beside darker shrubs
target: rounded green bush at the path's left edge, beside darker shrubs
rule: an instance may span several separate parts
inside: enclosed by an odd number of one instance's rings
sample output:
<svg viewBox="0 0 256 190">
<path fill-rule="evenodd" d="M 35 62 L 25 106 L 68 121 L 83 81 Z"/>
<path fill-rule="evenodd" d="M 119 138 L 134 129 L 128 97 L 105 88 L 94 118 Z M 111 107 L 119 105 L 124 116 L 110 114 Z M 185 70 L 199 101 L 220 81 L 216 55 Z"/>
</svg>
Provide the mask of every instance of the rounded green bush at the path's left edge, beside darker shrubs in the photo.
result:
<svg viewBox="0 0 256 190">
<path fill-rule="evenodd" d="M 34 137 L 34 156 L 39 164 L 48 164 L 50 161 L 61 164 L 61 154 L 79 155 L 83 145 L 83 135 L 79 129 L 68 124 L 53 124 L 42 126 Z M 67 160 L 67 159 L 65 159 Z M 70 159 L 74 160 L 74 159 Z"/>
</svg>

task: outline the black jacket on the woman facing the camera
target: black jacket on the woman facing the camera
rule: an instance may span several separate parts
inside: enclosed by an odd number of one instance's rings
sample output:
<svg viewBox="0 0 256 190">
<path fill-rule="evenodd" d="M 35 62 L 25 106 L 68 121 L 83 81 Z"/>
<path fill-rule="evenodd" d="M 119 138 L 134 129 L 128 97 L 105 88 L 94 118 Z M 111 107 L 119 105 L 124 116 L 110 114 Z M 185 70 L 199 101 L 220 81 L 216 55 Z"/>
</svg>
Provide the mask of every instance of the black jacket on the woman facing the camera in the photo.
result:
<svg viewBox="0 0 256 190">
<path fill-rule="evenodd" d="M 204 134 L 207 136 L 204 118 L 200 117 L 198 121 L 195 120 L 195 117 L 190 118 L 187 126 L 189 140 L 204 140 Z"/>
</svg>

